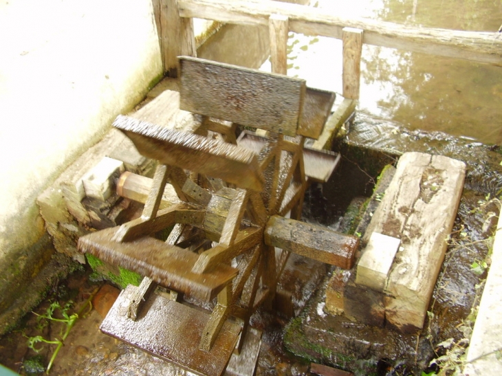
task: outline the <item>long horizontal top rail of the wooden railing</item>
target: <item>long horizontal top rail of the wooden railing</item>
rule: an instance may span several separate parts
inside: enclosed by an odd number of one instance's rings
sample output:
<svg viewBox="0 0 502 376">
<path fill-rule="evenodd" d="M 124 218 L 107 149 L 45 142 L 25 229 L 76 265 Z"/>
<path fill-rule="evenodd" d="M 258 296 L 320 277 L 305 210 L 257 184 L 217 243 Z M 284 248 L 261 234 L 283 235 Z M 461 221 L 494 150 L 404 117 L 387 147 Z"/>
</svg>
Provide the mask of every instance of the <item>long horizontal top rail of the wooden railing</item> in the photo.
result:
<svg viewBox="0 0 502 376">
<path fill-rule="evenodd" d="M 182 17 L 242 25 L 268 25 L 271 14 L 290 19 L 290 31 L 341 39 L 344 27 L 364 30 L 363 43 L 502 65 L 502 38 L 493 32 L 468 32 L 347 19 L 322 8 L 280 1 L 178 0 Z"/>
</svg>

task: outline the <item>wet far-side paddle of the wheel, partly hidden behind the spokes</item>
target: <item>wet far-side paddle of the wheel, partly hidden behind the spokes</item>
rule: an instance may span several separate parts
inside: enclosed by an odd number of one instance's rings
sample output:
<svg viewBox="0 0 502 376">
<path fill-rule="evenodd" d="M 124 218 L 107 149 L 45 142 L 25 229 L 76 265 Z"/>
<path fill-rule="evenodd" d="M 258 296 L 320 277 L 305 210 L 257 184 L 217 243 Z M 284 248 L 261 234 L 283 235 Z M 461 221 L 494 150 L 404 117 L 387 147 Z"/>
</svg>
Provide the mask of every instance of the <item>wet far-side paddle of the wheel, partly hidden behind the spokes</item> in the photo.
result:
<svg viewBox="0 0 502 376">
<path fill-rule="evenodd" d="M 259 135 L 252 135 L 243 132 L 237 140 L 237 145 L 253 153 L 259 153 L 265 146 L 267 139 Z M 331 173 L 340 163 L 340 154 L 332 151 L 303 148 L 303 164 L 305 166 L 305 176 L 313 181 L 325 183 L 329 180 Z"/>
</svg>

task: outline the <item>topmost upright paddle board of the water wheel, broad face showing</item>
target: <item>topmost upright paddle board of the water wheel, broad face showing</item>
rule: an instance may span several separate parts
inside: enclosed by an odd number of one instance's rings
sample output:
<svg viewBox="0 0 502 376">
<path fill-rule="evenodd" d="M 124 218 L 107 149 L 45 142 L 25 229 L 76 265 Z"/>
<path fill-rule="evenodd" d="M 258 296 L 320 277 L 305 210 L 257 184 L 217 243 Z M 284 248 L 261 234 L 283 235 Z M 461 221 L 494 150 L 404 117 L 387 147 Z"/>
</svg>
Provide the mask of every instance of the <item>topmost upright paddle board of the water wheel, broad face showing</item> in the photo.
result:
<svg viewBox="0 0 502 376">
<path fill-rule="evenodd" d="M 185 56 L 179 63 L 180 109 L 296 135 L 305 80 Z"/>
</svg>

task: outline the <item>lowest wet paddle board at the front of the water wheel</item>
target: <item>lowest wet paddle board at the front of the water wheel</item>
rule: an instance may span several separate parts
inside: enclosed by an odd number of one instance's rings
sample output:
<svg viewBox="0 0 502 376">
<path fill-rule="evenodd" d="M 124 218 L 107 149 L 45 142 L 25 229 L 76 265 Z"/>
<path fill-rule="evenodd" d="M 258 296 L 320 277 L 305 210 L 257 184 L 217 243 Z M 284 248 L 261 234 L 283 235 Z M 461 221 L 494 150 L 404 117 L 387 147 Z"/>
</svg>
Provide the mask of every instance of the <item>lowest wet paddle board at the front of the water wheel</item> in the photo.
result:
<svg viewBox="0 0 502 376">
<path fill-rule="evenodd" d="M 199 350 L 199 340 L 210 315 L 168 298 L 152 294 L 136 321 L 122 314 L 127 309 L 129 285 L 120 293 L 101 324 L 101 331 L 152 355 L 203 376 L 223 374 L 239 338 L 241 326 L 226 321 L 209 351 Z"/>
</svg>

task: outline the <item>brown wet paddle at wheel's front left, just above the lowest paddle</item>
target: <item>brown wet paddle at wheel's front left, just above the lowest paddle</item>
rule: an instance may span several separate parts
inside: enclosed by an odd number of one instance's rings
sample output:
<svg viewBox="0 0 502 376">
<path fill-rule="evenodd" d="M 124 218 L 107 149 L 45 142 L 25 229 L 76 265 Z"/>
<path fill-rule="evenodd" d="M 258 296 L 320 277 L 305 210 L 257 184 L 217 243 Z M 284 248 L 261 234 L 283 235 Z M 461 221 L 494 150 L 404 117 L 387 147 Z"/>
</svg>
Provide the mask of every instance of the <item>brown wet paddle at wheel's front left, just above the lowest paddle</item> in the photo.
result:
<svg viewBox="0 0 502 376">
<path fill-rule="evenodd" d="M 168 245 L 150 236 L 118 243 L 111 240 L 119 227 L 93 232 L 78 239 L 78 250 L 100 260 L 149 276 L 156 283 L 206 301 L 237 275 L 237 269 L 216 265 L 210 273 L 191 272 L 198 254 Z"/>
</svg>

